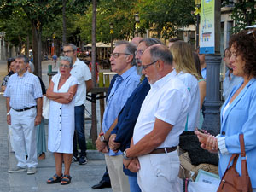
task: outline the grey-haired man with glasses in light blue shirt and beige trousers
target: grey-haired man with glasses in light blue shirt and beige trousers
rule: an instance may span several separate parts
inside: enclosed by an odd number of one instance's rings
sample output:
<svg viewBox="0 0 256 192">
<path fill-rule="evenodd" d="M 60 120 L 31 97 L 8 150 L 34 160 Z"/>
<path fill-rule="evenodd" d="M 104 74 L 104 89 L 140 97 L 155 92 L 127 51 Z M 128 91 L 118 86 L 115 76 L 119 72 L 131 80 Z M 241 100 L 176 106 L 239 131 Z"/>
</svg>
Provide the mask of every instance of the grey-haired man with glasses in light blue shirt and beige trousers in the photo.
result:
<svg viewBox="0 0 256 192">
<path fill-rule="evenodd" d="M 115 44 L 110 62 L 112 71 L 119 76 L 116 78 L 108 96 L 100 135 L 110 129 L 124 107 L 127 98 L 131 96 L 137 84 L 140 83 L 140 76 L 136 73 L 136 67 L 131 65 L 135 50 L 136 47 L 126 41 L 119 41 Z M 107 143 L 103 143 L 101 137 L 96 140 L 96 147 L 99 151 L 108 152 L 108 154 L 105 154 L 105 160 L 113 192 L 130 191 L 128 177 L 123 172 L 122 152 L 116 151 L 115 153 L 111 149 L 106 151 Z"/>
</svg>

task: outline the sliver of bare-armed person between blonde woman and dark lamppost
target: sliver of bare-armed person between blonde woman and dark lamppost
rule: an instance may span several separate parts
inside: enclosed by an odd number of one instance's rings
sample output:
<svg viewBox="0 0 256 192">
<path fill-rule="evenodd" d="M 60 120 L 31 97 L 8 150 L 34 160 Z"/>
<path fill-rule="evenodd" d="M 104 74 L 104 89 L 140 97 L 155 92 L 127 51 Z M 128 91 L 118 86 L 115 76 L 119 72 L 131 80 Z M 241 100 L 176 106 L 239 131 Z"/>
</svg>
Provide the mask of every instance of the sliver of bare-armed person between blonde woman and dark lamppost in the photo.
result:
<svg viewBox="0 0 256 192">
<path fill-rule="evenodd" d="M 200 77 L 200 79 L 198 80 L 198 86 L 199 86 L 199 90 L 200 90 L 200 119 L 199 119 L 198 128 L 201 129 L 202 124 L 204 122 L 204 116 L 202 113 L 202 105 L 203 105 L 203 102 L 205 101 L 205 97 L 207 95 L 207 81 L 206 81 L 206 79 L 203 79 L 203 77 L 201 76 L 200 60 L 196 53 L 194 53 L 194 61 L 195 61 L 196 71 Z"/>
</svg>

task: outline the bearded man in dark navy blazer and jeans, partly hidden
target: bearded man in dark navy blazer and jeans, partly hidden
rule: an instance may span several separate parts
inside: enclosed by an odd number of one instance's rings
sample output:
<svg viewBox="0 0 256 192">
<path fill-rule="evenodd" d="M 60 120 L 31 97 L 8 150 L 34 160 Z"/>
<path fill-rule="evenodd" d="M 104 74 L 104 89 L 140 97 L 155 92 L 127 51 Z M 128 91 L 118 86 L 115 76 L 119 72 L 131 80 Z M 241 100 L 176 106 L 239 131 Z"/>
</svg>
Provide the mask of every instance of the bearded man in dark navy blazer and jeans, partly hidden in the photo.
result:
<svg viewBox="0 0 256 192">
<path fill-rule="evenodd" d="M 137 46 L 137 51 L 135 51 L 135 58 L 137 62 L 137 74 L 142 76 L 141 83 L 132 92 L 131 96 L 125 102 L 124 108 L 119 113 L 118 123 L 111 132 L 112 135 L 109 139 L 109 147 L 113 151 L 121 150 L 125 151 L 126 148 L 130 148 L 131 137 L 133 134 L 134 125 L 137 121 L 138 113 L 142 106 L 145 96 L 150 90 L 150 85 L 148 84 L 148 79 L 142 74 L 142 62 L 141 56 L 143 51 L 153 44 L 162 44 L 159 39 L 156 38 L 145 38 L 140 41 Z M 130 191 L 139 192 L 141 189 L 137 185 L 137 173 L 130 172 L 128 169 L 124 169 L 125 175 L 129 178 Z"/>
</svg>

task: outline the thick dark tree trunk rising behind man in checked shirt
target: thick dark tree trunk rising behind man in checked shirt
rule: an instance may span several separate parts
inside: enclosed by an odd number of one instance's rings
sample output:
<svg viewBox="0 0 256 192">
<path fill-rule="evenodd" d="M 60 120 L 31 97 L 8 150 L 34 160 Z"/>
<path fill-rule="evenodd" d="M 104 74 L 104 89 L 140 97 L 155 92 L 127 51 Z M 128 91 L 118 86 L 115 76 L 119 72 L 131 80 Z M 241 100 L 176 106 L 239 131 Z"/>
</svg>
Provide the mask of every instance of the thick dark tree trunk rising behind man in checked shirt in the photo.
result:
<svg viewBox="0 0 256 192">
<path fill-rule="evenodd" d="M 42 78 L 42 26 L 38 20 L 32 20 L 32 48 L 33 48 L 33 64 L 35 66 L 35 75 Z"/>
</svg>

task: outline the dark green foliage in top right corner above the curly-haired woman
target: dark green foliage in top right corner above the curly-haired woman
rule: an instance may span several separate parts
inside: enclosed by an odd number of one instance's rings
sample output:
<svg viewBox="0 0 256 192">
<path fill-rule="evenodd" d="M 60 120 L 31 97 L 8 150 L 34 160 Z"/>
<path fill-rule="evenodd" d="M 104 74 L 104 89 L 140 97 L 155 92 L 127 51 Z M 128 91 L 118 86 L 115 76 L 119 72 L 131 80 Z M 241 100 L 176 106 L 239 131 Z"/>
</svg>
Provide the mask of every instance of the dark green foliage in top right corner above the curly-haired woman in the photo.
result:
<svg viewBox="0 0 256 192">
<path fill-rule="evenodd" d="M 255 24 L 256 20 L 256 1 L 255 0 L 237 0 L 235 3 L 230 0 L 224 0 L 223 6 L 233 7 L 231 18 L 235 21 L 232 32 L 240 32 L 246 26 Z"/>
</svg>

